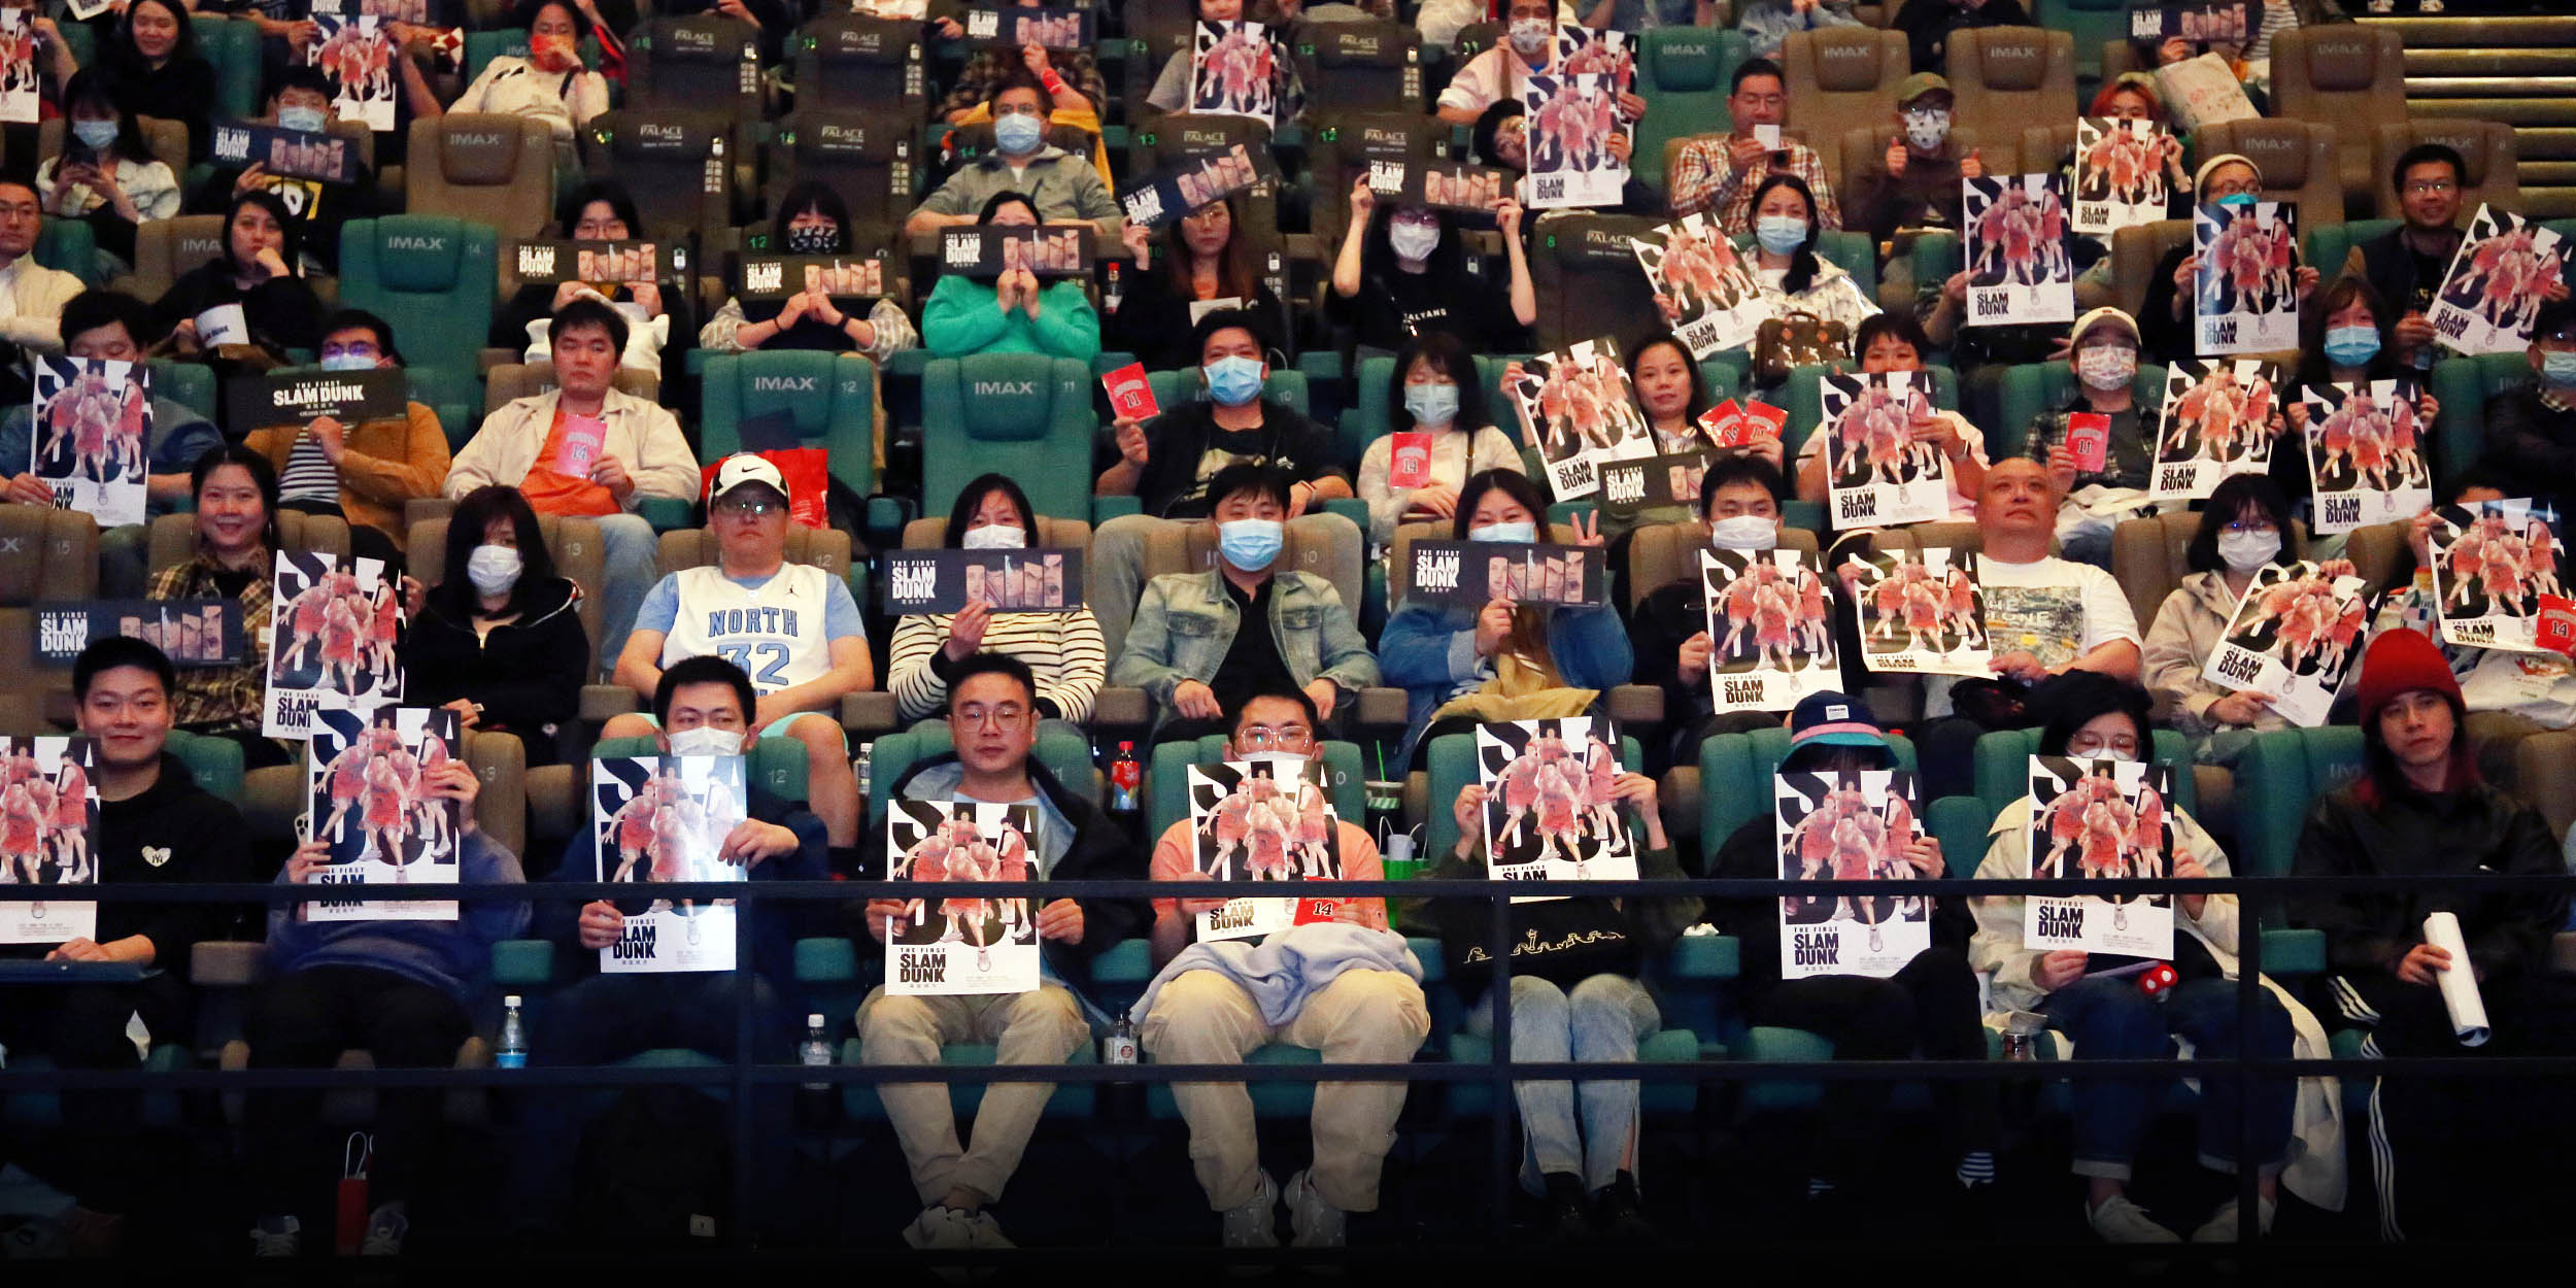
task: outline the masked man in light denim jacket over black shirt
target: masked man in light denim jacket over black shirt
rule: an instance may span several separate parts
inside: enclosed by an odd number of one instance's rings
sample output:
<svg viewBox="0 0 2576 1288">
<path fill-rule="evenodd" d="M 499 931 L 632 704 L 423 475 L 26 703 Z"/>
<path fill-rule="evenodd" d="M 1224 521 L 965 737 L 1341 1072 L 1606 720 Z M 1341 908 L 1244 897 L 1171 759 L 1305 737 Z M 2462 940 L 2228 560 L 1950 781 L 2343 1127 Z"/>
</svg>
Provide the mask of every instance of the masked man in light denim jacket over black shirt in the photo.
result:
<svg viewBox="0 0 2576 1288">
<path fill-rule="evenodd" d="M 1208 479 L 1216 567 L 1146 582 L 1110 683 L 1154 698 L 1154 742 L 1229 732 L 1229 714 L 1265 685 L 1303 690 L 1329 721 L 1345 696 L 1378 683 L 1378 659 L 1332 582 L 1273 572 L 1285 544 L 1291 482 L 1275 466 L 1216 471 Z M 1267 618 L 1270 629 L 1244 631 L 1247 613 Z"/>
</svg>

